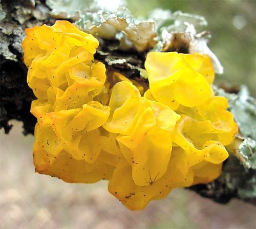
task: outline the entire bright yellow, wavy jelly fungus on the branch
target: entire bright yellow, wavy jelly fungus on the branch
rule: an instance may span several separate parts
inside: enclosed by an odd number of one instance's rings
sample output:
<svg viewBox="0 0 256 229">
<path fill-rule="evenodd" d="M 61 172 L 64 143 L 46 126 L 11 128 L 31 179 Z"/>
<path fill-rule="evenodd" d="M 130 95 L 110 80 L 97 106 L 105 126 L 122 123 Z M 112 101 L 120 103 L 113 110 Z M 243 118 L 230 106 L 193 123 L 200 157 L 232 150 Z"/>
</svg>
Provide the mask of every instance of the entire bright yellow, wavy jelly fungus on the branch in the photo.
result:
<svg viewBox="0 0 256 229">
<path fill-rule="evenodd" d="M 36 172 L 109 180 L 110 193 L 131 210 L 217 178 L 238 126 L 211 89 L 210 58 L 148 53 L 148 85 L 106 70 L 94 60 L 98 45 L 68 21 L 26 30 Z"/>
</svg>

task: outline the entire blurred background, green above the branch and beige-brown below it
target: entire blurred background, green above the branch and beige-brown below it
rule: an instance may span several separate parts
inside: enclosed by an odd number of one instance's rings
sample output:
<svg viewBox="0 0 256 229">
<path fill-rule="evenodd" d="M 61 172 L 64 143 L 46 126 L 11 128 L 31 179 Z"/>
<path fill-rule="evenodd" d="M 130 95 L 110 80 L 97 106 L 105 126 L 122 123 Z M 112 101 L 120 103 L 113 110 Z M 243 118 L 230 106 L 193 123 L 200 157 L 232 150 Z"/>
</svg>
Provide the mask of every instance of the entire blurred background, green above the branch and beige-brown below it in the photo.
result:
<svg viewBox="0 0 256 229">
<path fill-rule="evenodd" d="M 155 8 L 204 16 L 212 34 L 209 47 L 225 71 L 216 81 L 246 84 L 256 96 L 256 1 L 126 2 L 135 16 Z M 12 123 L 10 134 L 2 129 L 0 135 L 0 228 L 256 228 L 255 207 L 239 200 L 221 205 L 177 189 L 144 211 L 131 212 L 108 193 L 106 181 L 67 184 L 36 174 L 34 137 L 22 134 L 21 123 Z"/>
</svg>

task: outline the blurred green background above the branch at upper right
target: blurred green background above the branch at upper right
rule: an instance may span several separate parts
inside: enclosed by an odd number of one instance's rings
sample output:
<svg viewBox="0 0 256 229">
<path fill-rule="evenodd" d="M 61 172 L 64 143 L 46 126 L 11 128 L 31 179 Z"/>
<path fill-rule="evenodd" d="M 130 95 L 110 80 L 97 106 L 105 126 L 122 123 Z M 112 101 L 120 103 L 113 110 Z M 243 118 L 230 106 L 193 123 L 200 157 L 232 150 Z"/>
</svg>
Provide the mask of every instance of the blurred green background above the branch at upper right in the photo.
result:
<svg viewBox="0 0 256 229">
<path fill-rule="evenodd" d="M 147 16 L 155 8 L 181 10 L 204 16 L 212 38 L 209 48 L 224 66 L 216 83 L 246 84 L 256 96 L 256 1 L 255 0 L 127 0 L 135 16 Z"/>
</svg>

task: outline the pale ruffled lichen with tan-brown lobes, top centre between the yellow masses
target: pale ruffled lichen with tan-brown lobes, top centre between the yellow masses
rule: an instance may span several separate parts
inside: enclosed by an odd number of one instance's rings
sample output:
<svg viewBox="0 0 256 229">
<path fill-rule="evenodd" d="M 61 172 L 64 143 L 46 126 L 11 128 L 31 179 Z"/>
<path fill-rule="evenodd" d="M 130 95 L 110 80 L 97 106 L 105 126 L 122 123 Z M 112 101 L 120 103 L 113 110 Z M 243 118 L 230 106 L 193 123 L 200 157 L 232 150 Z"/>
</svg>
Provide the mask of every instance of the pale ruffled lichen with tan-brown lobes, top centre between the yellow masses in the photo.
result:
<svg viewBox="0 0 256 229">
<path fill-rule="evenodd" d="M 138 52 L 144 52 L 151 50 L 157 43 L 155 22 L 152 20 L 136 22 L 125 7 L 120 7 L 115 12 L 99 10 L 85 13 L 75 24 L 96 37 L 119 39 L 122 41 L 119 45 L 121 50 L 135 48 Z"/>
</svg>

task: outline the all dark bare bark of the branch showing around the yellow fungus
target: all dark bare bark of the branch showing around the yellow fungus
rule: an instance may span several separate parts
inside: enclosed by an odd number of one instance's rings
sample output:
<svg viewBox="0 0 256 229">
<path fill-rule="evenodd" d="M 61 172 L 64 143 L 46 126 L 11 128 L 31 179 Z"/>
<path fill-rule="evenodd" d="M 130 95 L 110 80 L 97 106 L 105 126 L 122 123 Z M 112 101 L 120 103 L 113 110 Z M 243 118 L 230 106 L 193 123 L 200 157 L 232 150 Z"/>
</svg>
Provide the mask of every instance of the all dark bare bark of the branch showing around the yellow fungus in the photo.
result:
<svg viewBox="0 0 256 229">
<path fill-rule="evenodd" d="M 8 133 L 11 129 L 9 120 L 16 119 L 23 122 L 24 134 L 33 134 L 36 119 L 30 113 L 30 104 L 35 97 L 27 86 L 27 67 L 23 62 L 20 43 L 24 38 L 25 28 L 42 24 L 52 25 L 55 19 L 50 17 L 50 9 L 43 0 L 2 0 L 2 8 L 0 16 L 5 18 L 0 23 L 0 128 L 4 128 L 5 133 Z M 129 77 L 144 80 L 140 78 L 139 71 L 144 60 L 135 53 L 103 49 L 96 53 L 95 58 L 106 66 L 126 73 Z M 119 59 L 126 59 L 126 62 L 121 63 Z M 224 163 L 223 173 L 218 179 L 190 189 L 220 203 L 227 203 L 231 198 L 239 198 L 255 204 L 255 186 L 255 170 L 242 165 L 238 157 L 231 155 Z"/>
</svg>

